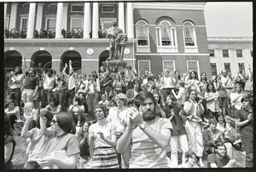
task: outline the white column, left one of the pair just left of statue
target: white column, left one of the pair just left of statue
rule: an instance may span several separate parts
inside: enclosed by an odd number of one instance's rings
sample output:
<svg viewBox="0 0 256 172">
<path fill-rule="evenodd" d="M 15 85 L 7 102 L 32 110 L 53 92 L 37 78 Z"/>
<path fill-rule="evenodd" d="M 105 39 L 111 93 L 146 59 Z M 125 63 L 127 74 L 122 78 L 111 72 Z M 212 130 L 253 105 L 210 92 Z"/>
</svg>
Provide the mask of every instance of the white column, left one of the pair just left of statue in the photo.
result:
<svg viewBox="0 0 256 172">
<path fill-rule="evenodd" d="M 84 3 L 84 38 L 90 38 L 90 3 Z"/>
</svg>

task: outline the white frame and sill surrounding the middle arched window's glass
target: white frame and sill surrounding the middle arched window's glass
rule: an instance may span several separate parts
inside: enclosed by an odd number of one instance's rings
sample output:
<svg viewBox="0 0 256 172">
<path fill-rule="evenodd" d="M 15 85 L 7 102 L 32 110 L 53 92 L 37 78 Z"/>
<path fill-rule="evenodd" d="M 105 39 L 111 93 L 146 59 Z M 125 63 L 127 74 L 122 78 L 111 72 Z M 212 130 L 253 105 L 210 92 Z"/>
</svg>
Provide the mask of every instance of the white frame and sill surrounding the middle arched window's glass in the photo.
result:
<svg viewBox="0 0 256 172">
<path fill-rule="evenodd" d="M 162 45 L 162 23 L 168 23 L 170 27 L 170 35 L 171 35 L 171 45 Z M 156 46 L 158 53 L 178 53 L 177 49 L 177 31 L 176 27 L 172 26 L 172 24 L 167 20 L 162 20 L 159 26 L 155 26 L 156 32 Z"/>
</svg>

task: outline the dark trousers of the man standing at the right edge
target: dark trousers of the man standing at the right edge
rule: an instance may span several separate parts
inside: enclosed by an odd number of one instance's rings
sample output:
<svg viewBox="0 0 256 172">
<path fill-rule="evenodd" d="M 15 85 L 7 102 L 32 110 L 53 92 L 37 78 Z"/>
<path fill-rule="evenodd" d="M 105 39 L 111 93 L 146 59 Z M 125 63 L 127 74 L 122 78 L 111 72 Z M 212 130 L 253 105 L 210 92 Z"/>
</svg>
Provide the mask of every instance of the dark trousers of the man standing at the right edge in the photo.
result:
<svg viewBox="0 0 256 172">
<path fill-rule="evenodd" d="M 246 152 L 246 167 L 253 167 L 253 133 L 250 136 L 241 135 L 241 140 Z"/>
</svg>

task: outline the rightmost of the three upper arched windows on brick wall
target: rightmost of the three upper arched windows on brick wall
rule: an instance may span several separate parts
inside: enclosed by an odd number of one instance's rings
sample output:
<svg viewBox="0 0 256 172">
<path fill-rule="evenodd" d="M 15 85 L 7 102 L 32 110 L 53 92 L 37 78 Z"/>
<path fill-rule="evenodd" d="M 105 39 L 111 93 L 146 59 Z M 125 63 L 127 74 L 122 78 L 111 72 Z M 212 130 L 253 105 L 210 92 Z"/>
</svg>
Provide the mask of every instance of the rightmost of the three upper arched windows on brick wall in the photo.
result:
<svg viewBox="0 0 256 172">
<path fill-rule="evenodd" d="M 183 23 L 183 34 L 184 34 L 185 46 L 195 47 L 196 46 L 195 27 L 191 22 L 185 21 Z"/>
</svg>

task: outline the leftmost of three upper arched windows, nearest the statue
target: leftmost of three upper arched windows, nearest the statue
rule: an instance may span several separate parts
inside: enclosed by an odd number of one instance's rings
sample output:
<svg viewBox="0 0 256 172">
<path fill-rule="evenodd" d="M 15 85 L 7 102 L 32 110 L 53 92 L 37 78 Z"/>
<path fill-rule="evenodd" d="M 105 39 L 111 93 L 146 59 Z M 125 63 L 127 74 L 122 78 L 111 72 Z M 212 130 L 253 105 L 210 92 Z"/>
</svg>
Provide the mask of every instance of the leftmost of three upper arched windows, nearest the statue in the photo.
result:
<svg viewBox="0 0 256 172">
<path fill-rule="evenodd" d="M 138 46 L 148 46 L 149 45 L 149 28 L 148 23 L 145 20 L 137 21 L 136 25 L 137 34 L 137 45 Z"/>
</svg>

